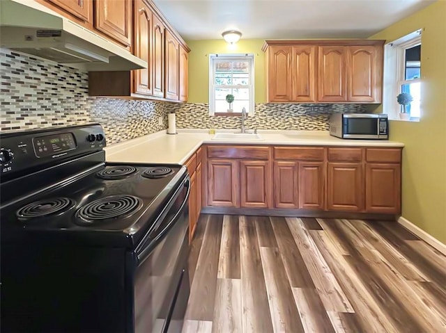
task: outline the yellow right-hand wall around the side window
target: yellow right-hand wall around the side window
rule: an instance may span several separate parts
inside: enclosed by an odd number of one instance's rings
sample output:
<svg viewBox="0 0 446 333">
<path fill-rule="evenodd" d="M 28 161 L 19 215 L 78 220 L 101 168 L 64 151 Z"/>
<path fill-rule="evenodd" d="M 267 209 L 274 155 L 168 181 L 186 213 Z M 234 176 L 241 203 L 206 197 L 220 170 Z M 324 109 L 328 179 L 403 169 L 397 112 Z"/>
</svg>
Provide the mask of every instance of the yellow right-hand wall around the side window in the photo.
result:
<svg viewBox="0 0 446 333">
<path fill-rule="evenodd" d="M 422 31 L 422 117 L 390 122 L 403 149 L 403 217 L 446 243 L 446 1 L 438 1 L 371 39 Z M 378 107 L 377 110 L 379 110 Z"/>
</svg>

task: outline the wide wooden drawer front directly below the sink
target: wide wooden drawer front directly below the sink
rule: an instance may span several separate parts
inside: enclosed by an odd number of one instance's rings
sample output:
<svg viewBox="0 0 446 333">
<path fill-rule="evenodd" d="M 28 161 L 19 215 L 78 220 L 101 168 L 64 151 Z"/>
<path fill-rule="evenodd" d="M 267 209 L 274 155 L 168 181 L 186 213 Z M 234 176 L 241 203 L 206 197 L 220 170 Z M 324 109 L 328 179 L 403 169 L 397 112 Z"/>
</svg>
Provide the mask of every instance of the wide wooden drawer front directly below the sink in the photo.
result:
<svg viewBox="0 0 446 333">
<path fill-rule="evenodd" d="M 257 146 L 208 146 L 208 159 L 268 160 L 269 147 Z"/>
</svg>

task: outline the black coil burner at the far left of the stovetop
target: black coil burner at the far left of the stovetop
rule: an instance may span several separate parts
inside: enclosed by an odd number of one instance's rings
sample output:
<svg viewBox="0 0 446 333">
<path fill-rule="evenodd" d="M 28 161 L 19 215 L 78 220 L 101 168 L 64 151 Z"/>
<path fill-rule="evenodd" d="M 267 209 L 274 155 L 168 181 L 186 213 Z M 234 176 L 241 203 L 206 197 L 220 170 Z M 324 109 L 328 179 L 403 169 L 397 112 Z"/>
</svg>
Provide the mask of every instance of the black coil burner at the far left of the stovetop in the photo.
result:
<svg viewBox="0 0 446 333">
<path fill-rule="evenodd" d="M 47 216 L 59 215 L 65 213 L 75 206 L 74 200 L 67 197 L 56 197 L 36 202 L 31 202 L 23 206 L 15 213 L 20 220 L 30 220 L 33 218 L 45 218 Z"/>
</svg>

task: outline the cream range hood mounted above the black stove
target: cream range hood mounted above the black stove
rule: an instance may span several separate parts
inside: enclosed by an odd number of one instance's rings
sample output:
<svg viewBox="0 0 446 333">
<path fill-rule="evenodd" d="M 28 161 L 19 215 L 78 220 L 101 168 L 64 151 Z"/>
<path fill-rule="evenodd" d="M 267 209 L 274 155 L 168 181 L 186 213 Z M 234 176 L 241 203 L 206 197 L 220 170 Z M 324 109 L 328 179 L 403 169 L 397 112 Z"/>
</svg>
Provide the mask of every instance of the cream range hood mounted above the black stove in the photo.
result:
<svg viewBox="0 0 446 333">
<path fill-rule="evenodd" d="M 0 0 L 0 46 L 88 72 L 147 68 L 130 51 L 33 0 Z"/>
</svg>

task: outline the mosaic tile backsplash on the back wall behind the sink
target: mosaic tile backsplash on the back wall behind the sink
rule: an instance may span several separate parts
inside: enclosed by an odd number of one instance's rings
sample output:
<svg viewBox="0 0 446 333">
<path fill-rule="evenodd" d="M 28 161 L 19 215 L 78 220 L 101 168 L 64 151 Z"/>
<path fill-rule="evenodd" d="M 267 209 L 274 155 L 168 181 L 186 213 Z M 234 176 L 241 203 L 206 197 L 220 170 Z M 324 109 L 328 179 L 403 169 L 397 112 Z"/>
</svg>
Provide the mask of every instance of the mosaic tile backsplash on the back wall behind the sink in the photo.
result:
<svg viewBox="0 0 446 333">
<path fill-rule="evenodd" d="M 238 116 L 213 117 L 208 104 L 186 103 L 172 106 L 180 129 L 240 129 Z M 254 116 L 245 120 L 247 129 L 294 129 L 328 131 L 328 118 L 334 112 L 365 113 L 362 104 L 279 104 L 258 103 Z"/>
</svg>

